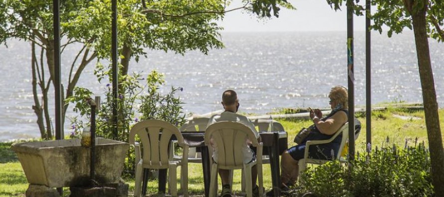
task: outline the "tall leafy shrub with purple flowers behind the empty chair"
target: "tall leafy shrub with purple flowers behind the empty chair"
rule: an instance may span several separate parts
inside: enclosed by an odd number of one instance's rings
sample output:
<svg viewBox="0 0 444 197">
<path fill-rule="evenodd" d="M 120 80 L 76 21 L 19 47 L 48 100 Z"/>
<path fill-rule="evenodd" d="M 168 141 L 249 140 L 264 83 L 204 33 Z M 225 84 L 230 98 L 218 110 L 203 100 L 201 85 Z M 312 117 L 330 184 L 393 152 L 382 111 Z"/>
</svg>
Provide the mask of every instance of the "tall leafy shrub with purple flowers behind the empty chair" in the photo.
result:
<svg viewBox="0 0 444 197">
<path fill-rule="evenodd" d="M 110 70 L 99 65 L 95 71 L 99 82 L 109 77 Z M 117 98 L 117 125 L 114 125 L 113 116 L 113 92 L 110 84 L 104 88 L 105 99 L 100 103 L 96 114 L 96 135 L 108 139 L 128 142 L 131 127 L 141 120 L 160 119 L 180 126 L 185 122 L 182 102 L 176 93 L 182 88 L 171 88 L 171 92 L 162 94 L 158 90 L 164 85 L 164 76 L 153 70 L 143 81 L 140 73 L 133 75 L 119 75 L 119 96 Z M 93 95 L 86 88 L 76 87 L 74 95 L 66 101 L 74 103 L 76 117 L 71 118 L 71 137 L 80 137 L 84 127 L 89 127 L 91 116 L 90 107 L 85 98 Z M 140 115 L 139 117 L 137 117 Z M 87 120 L 85 120 L 87 119 Z M 86 123 L 85 123 L 85 122 Z M 117 133 L 114 133 L 117 128 Z M 130 148 L 125 158 L 124 177 L 134 176 L 134 148 Z"/>
</svg>

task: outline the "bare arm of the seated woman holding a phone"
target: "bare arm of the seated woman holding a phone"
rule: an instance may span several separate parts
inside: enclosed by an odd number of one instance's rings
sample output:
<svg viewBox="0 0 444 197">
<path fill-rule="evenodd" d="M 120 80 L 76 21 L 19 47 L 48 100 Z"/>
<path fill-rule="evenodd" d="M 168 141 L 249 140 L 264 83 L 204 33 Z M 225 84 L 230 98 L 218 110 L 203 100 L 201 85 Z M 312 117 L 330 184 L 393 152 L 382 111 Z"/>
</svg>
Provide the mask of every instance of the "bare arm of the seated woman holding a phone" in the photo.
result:
<svg viewBox="0 0 444 197">
<path fill-rule="evenodd" d="M 348 119 L 344 111 L 339 111 L 325 121 L 322 121 L 317 116 L 313 117 L 313 123 L 322 134 L 333 135 Z"/>
</svg>

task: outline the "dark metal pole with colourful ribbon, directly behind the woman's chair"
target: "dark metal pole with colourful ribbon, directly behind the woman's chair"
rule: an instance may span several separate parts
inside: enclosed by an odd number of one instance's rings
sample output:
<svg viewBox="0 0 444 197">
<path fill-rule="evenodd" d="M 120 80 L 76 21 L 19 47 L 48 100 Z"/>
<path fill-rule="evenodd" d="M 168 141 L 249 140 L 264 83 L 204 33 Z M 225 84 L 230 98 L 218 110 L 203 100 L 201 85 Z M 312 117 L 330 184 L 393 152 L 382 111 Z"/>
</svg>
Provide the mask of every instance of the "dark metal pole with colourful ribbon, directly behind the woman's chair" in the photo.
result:
<svg viewBox="0 0 444 197">
<path fill-rule="evenodd" d="M 355 159 L 355 91 L 353 73 L 353 0 L 347 0 L 347 73 L 348 73 L 348 135 L 349 161 Z"/>
</svg>

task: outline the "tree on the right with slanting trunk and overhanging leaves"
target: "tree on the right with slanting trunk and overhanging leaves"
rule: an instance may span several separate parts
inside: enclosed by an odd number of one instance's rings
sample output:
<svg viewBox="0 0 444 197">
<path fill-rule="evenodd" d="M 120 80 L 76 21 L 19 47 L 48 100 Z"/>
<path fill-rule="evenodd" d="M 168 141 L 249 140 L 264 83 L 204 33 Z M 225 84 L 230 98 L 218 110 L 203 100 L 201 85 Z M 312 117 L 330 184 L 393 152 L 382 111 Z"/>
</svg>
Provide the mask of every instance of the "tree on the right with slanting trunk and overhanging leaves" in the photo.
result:
<svg viewBox="0 0 444 197">
<path fill-rule="evenodd" d="M 339 9 L 345 1 L 353 6 L 355 14 L 363 14 L 363 6 L 353 0 L 327 0 L 334 9 Z M 367 15 L 373 19 L 371 29 L 383 31 L 389 27 L 388 36 L 401 33 L 405 28 L 413 29 L 418 58 L 418 70 L 421 79 L 427 135 L 429 139 L 431 174 L 435 195 L 444 197 L 444 149 L 438 114 L 438 102 L 435 81 L 430 59 L 429 37 L 444 41 L 444 2 L 441 0 L 370 0 L 377 9 Z"/>
</svg>

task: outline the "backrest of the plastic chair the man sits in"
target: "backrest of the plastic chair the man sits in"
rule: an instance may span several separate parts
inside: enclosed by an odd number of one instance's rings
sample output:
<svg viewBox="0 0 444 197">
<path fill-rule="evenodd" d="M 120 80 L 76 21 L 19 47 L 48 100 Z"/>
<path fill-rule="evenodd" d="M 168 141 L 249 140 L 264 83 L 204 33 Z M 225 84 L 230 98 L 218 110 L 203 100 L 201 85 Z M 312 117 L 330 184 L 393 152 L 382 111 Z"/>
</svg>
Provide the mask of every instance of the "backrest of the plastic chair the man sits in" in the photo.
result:
<svg viewBox="0 0 444 197">
<path fill-rule="evenodd" d="M 226 167 L 243 166 L 243 147 L 249 139 L 254 147 L 258 146 L 256 136 L 251 129 L 241 123 L 218 122 L 210 125 L 205 132 L 205 145 L 212 146 L 211 141 L 216 143 L 214 151 L 218 153 L 218 165 Z"/>
</svg>

